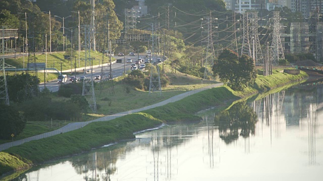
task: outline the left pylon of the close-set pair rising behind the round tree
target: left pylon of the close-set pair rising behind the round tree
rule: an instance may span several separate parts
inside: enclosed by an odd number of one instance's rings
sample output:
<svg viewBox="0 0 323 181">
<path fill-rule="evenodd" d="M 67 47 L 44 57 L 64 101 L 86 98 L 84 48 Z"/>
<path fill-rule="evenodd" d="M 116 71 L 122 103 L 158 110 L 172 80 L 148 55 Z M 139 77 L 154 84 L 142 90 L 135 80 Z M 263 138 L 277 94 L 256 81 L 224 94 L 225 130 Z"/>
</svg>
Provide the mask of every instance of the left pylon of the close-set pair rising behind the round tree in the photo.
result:
<svg viewBox="0 0 323 181">
<path fill-rule="evenodd" d="M 250 48 L 250 41 L 249 41 L 249 17 L 248 12 L 243 14 L 242 24 L 243 24 L 243 38 L 242 38 L 242 46 L 241 46 L 241 55 L 246 54 L 251 56 L 251 48 Z"/>
</svg>

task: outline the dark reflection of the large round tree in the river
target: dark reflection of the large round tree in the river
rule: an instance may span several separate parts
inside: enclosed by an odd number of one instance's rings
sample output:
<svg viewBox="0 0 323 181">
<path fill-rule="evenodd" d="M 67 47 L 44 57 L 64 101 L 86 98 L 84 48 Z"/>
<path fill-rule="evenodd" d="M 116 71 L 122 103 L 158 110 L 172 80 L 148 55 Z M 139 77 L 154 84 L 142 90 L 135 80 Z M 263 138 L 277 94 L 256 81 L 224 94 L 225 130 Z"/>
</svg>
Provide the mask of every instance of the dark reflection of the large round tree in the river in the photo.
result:
<svg viewBox="0 0 323 181">
<path fill-rule="evenodd" d="M 219 126 L 220 138 L 227 144 L 237 140 L 239 135 L 246 138 L 250 133 L 254 134 L 257 121 L 256 113 L 246 102 L 237 103 L 214 117 L 214 124 Z"/>
</svg>

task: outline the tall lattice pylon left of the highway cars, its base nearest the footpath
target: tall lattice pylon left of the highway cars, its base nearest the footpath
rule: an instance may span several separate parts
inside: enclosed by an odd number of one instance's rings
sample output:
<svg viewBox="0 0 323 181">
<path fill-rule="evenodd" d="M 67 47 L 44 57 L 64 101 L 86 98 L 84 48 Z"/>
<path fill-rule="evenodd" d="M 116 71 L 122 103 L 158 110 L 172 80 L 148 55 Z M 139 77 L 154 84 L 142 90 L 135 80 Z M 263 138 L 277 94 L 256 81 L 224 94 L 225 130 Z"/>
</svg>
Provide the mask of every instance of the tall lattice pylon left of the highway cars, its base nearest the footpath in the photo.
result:
<svg viewBox="0 0 323 181">
<path fill-rule="evenodd" d="M 85 67 L 83 75 L 85 76 L 86 73 L 86 65 L 91 65 L 91 56 L 90 56 L 90 26 L 83 25 L 84 27 L 84 35 L 85 35 Z M 96 101 L 95 101 L 95 93 L 94 93 L 94 85 L 93 85 L 93 77 L 92 77 L 92 67 L 91 67 L 91 79 L 90 80 L 83 80 L 83 89 L 82 89 L 82 96 L 85 96 L 86 100 L 89 102 L 89 107 L 91 110 L 96 113 Z"/>
</svg>

